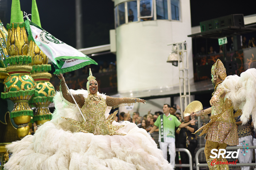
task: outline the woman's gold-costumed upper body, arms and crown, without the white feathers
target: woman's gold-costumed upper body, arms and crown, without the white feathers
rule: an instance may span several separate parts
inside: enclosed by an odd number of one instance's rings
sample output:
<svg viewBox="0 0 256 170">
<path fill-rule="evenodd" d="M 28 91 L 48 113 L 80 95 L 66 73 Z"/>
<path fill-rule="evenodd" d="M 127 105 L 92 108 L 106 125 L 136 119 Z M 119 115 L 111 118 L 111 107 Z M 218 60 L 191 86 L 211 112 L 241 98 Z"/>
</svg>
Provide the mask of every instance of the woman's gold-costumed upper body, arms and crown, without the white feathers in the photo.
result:
<svg viewBox="0 0 256 170">
<path fill-rule="evenodd" d="M 66 88 L 65 79 L 62 74 L 57 75 L 60 78 L 60 91 L 64 98 L 64 101 L 71 105 L 75 104 L 68 93 Z M 115 120 L 116 112 L 109 115 L 107 120 L 105 119 L 105 111 L 108 107 L 119 107 L 121 104 L 132 104 L 136 102 L 141 102 L 146 104 L 146 100 L 139 98 L 115 98 L 106 96 L 105 98 L 98 92 L 98 83 L 95 77 L 92 76 L 92 71 L 90 69 L 90 75 L 87 78 L 88 82 L 86 84 L 87 92 L 89 93 L 87 97 L 83 94 L 73 95 L 78 106 L 82 109 L 82 113 L 86 121 L 74 122 L 74 120 L 69 118 L 64 118 L 69 122 L 75 123 L 74 126 L 77 127 L 77 132 L 93 133 L 94 135 L 124 135 L 116 133 L 115 131 L 123 126 L 113 126 L 112 122 Z"/>
</svg>

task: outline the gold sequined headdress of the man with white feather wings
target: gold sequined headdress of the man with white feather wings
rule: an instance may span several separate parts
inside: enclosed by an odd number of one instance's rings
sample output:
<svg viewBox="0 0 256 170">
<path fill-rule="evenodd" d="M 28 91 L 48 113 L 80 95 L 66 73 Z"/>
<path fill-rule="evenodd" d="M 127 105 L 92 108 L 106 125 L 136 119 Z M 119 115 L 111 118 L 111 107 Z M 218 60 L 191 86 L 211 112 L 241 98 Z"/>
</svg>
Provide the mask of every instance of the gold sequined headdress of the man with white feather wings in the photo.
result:
<svg viewBox="0 0 256 170">
<path fill-rule="evenodd" d="M 217 80 L 218 76 L 221 80 L 225 80 L 227 77 L 226 69 L 220 59 L 218 59 L 212 66 L 212 76 L 214 80 Z"/>
</svg>

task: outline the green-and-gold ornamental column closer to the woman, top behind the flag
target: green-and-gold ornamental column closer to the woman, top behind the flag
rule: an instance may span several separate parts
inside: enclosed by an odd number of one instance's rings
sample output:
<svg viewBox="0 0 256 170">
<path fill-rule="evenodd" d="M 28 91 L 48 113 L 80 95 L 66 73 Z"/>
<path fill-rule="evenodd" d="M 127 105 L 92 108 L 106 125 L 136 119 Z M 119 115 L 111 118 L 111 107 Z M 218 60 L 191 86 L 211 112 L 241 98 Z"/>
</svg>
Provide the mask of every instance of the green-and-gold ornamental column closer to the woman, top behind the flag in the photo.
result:
<svg viewBox="0 0 256 170">
<path fill-rule="evenodd" d="M 51 64 L 48 63 L 48 57 L 40 50 L 34 41 L 29 42 L 28 54 L 32 57 L 33 69 L 31 71 L 31 77 L 36 82 L 36 90 L 38 96 L 34 96 L 30 103 L 36 107 L 36 111 L 33 116 L 33 122 L 37 125 L 50 121 L 52 113 L 49 110 L 49 104 L 52 102 L 52 98 L 55 95 L 55 89 L 49 82 L 52 75 L 47 73 L 51 71 Z"/>
</svg>

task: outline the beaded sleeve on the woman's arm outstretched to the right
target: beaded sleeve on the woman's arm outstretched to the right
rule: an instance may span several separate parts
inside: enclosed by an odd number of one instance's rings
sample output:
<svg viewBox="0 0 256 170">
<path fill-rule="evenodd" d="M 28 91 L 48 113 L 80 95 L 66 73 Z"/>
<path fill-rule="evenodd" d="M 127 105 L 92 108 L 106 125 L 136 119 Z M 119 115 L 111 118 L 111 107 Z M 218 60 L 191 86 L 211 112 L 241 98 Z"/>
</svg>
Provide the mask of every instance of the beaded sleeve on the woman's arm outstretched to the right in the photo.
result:
<svg viewBox="0 0 256 170">
<path fill-rule="evenodd" d="M 106 104 L 107 106 L 110 106 L 112 108 L 120 107 L 120 106 L 130 106 L 133 105 L 133 103 L 140 102 L 139 98 L 118 98 L 118 97 L 106 97 Z"/>
</svg>

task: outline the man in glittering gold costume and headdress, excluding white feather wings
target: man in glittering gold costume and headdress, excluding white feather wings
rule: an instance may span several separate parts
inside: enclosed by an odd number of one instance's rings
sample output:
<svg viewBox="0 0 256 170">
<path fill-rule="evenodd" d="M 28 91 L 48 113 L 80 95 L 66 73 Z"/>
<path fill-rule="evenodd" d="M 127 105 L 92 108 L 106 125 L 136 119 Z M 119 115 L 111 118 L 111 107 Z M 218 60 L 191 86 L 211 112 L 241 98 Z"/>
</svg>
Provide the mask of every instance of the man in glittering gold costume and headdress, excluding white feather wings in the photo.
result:
<svg viewBox="0 0 256 170">
<path fill-rule="evenodd" d="M 212 66 L 212 84 L 215 86 L 210 100 L 212 107 L 191 113 L 191 116 L 201 116 L 211 113 L 211 121 L 195 132 L 197 133 L 203 129 L 203 132 L 199 136 L 206 133 L 204 153 L 210 170 L 229 169 L 227 164 L 211 165 L 214 159 L 216 159 L 215 162 L 227 162 L 227 159 L 222 158 L 222 156 L 220 156 L 220 158 L 211 158 L 210 156 L 214 156 L 211 154 L 212 149 L 217 149 L 218 153 L 219 149 L 226 149 L 227 145 L 238 144 L 238 133 L 234 119 L 236 115 L 233 113 L 234 108 L 231 101 L 225 99 L 226 92 L 221 84 L 226 77 L 226 69 L 223 63 L 218 59 Z"/>
</svg>

